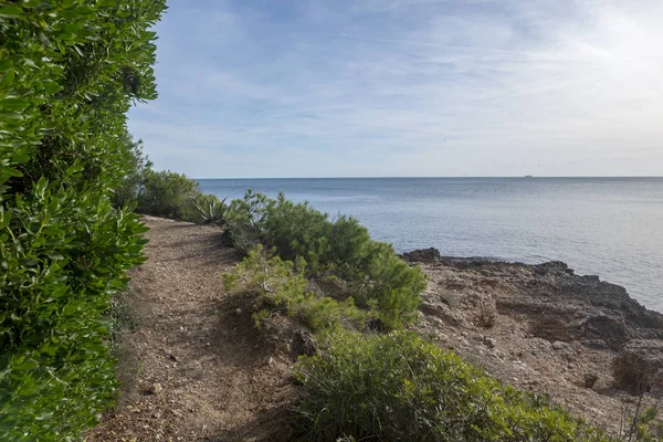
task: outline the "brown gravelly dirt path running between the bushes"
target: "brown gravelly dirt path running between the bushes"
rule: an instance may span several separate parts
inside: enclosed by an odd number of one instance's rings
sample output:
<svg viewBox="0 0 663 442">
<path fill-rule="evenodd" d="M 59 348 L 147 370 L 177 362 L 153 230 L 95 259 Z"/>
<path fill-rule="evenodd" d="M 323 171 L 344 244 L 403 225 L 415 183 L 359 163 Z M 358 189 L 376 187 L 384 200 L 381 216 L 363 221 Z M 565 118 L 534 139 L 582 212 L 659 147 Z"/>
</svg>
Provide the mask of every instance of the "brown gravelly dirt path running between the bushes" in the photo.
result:
<svg viewBox="0 0 663 442">
<path fill-rule="evenodd" d="M 123 400 L 87 441 L 262 441 L 288 431 L 288 364 L 223 290 L 238 262 L 220 231 L 146 217 L 133 271 L 139 327 L 122 345 Z"/>
</svg>

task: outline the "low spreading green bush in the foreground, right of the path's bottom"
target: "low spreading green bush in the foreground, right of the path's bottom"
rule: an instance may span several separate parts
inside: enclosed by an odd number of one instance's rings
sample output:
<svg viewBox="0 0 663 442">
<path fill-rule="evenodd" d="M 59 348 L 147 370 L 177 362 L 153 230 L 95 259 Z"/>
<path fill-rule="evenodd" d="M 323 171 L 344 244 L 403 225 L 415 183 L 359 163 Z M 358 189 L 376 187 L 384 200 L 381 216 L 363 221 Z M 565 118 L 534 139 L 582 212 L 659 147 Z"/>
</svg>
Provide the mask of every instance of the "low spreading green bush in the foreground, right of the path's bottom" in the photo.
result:
<svg viewBox="0 0 663 442">
<path fill-rule="evenodd" d="M 336 332 L 295 377 L 303 439 L 608 441 L 541 396 L 501 385 L 413 333 Z"/>
</svg>

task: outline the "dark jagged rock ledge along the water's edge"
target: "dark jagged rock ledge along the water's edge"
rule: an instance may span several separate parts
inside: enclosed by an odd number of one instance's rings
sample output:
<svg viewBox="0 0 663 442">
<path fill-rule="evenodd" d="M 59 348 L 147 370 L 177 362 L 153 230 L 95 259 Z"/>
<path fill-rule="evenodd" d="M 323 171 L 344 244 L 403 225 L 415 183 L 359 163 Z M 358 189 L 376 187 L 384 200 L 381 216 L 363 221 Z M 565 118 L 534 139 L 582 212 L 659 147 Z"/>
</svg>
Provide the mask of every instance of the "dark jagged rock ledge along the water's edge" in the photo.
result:
<svg viewBox="0 0 663 442">
<path fill-rule="evenodd" d="M 492 292 L 501 314 L 528 317 L 530 333 L 549 341 L 579 340 L 590 347 L 621 350 L 633 339 L 663 339 L 663 315 L 648 311 L 623 287 L 598 276 L 576 275 L 559 261 L 538 265 L 482 261 L 442 256 L 435 249 L 404 253 L 403 257 L 474 272 L 480 276 L 473 281 L 475 287 L 453 281 L 448 286 Z"/>
</svg>

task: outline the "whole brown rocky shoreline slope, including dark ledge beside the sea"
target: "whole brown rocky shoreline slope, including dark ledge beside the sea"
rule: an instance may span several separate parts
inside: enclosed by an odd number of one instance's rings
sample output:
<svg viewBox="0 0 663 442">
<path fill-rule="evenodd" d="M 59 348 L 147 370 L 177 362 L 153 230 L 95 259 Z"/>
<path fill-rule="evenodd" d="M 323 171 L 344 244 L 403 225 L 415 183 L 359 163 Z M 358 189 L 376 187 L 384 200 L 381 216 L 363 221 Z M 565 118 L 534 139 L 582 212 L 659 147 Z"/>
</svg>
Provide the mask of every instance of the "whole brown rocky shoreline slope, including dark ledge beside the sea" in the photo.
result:
<svg viewBox="0 0 663 442">
<path fill-rule="evenodd" d="M 663 397 L 663 315 L 562 262 L 402 255 L 429 286 L 419 328 L 515 387 L 619 431 L 642 394 Z"/>
</svg>

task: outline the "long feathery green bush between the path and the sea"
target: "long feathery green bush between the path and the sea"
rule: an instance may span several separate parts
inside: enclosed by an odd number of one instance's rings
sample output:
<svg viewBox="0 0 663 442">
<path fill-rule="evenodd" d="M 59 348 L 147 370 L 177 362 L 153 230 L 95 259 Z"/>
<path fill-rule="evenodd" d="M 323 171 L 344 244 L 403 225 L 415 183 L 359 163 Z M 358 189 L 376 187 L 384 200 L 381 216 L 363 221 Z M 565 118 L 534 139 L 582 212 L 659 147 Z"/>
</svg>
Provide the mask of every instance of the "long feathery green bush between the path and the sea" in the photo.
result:
<svg viewBox="0 0 663 442">
<path fill-rule="evenodd" d="M 241 251 L 255 244 L 275 249 L 284 260 L 303 259 L 306 275 L 329 276 L 347 283 L 357 306 L 376 313 L 379 326 L 393 329 L 414 317 L 425 280 L 410 267 L 390 244 L 372 241 L 352 218 L 330 221 L 307 203 L 294 203 L 249 190 L 228 211 L 225 235 Z"/>
</svg>

